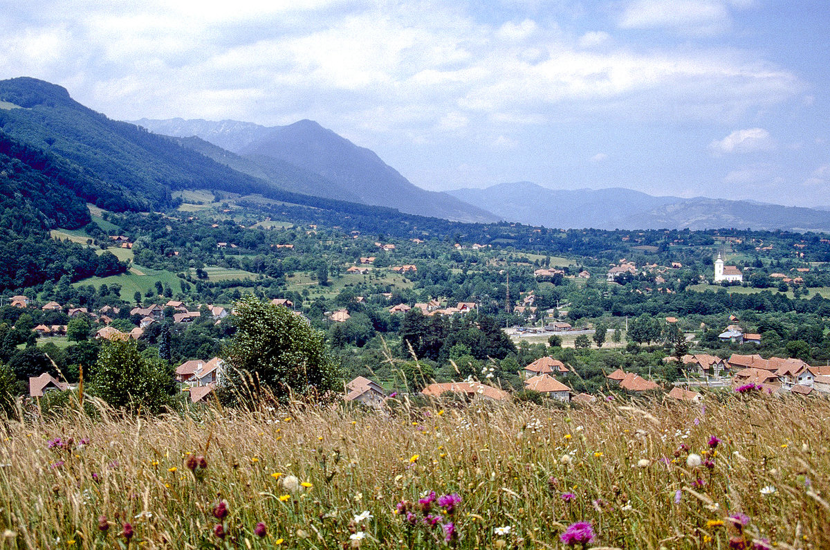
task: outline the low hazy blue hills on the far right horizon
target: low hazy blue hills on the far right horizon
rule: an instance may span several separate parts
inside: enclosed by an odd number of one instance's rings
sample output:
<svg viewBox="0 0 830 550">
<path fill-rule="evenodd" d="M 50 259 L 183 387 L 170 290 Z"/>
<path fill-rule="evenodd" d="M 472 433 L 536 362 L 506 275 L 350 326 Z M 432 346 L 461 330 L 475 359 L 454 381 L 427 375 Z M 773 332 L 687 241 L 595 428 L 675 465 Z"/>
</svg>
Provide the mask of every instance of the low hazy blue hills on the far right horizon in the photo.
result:
<svg viewBox="0 0 830 550">
<path fill-rule="evenodd" d="M 748 200 L 655 197 L 632 189 L 548 189 L 530 182 L 448 191 L 510 221 L 549 228 L 753 228 L 826 231 L 830 212 Z"/>
</svg>

